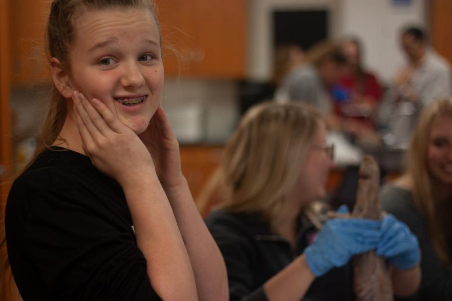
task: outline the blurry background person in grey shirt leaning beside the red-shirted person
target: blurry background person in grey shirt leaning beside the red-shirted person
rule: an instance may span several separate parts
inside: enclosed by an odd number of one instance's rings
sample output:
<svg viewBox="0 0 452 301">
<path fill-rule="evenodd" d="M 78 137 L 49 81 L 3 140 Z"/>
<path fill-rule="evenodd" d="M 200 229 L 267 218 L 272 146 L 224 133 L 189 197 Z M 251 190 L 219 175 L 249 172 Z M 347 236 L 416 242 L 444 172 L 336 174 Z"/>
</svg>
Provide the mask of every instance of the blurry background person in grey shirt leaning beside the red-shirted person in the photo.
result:
<svg viewBox="0 0 452 301">
<path fill-rule="evenodd" d="M 329 89 L 340 81 L 345 64 L 338 44 L 321 42 L 307 51 L 304 64 L 286 75 L 275 97 L 281 102 L 308 102 L 323 114 L 331 114 Z"/>
</svg>

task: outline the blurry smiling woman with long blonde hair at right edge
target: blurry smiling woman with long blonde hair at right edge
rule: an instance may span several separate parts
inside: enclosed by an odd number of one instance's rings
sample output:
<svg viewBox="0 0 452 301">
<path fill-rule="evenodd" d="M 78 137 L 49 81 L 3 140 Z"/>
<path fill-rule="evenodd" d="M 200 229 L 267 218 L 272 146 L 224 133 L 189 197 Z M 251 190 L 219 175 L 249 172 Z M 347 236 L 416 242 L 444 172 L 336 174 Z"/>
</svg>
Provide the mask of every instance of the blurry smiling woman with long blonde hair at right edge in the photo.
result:
<svg viewBox="0 0 452 301">
<path fill-rule="evenodd" d="M 406 174 L 383 190 L 383 209 L 419 240 L 420 298 L 452 300 L 452 98 L 423 109 L 407 155 Z"/>
</svg>

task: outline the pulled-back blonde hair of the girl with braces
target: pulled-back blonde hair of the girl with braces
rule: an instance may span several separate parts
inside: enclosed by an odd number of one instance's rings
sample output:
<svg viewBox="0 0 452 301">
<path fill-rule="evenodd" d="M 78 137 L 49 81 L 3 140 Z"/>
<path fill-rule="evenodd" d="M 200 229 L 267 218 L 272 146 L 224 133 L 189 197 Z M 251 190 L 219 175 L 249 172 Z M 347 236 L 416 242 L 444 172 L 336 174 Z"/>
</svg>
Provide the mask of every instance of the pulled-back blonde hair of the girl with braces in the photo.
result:
<svg viewBox="0 0 452 301">
<path fill-rule="evenodd" d="M 157 27 L 159 28 L 154 6 L 155 4 L 153 0 L 54 0 L 51 5 L 46 28 L 47 56 L 49 60 L 53 57 L 57 58 L 61 62 L 64 69 L 70 70 L 68 59 L 69 50 L 76 39 L 75 29 L 77 17 L 84 10 L 106 10 L 112 8 L 127 9 L 135 7 L 148 9 L 154 17 Z M 58 139 L 58 135 L 63 127 L 67 115 L 66 101 L 66 98 L 64 98 L 54 86 L 50 98 L 49 109 L 35 154 L 31 162 L 24 168 L 24 171 L 33 164 L 39 154 L 41 154 L 46 148 L 50 147 Z M 0 281 L 3 284 L 4 277 L 8 274 L 10 269 L 8 254 L 6 251 L 4 221 L 2 221 L 2 224 L 3 227 L 0 230 L 0 248 L 2 249 L 2 252 L 0 253 Z M 10 287 L 14 286 L 14 282 L 10 283 Z M 18 294 L 14 291 L 13 293 L 15 295 Z"/>
</svg>

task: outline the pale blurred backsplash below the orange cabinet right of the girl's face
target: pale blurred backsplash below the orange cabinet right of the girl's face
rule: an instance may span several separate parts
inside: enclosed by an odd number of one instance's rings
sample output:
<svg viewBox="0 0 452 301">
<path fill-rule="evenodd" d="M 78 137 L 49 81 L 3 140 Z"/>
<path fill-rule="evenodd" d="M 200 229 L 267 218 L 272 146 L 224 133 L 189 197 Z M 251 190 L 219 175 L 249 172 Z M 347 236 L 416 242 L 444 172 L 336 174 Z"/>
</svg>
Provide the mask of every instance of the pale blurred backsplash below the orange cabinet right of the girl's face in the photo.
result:
<svg viewBox="0 0 452 301">
<path fill-rule="evenodd" d="M 234 81 L 165 80 L 162 106 L 180 143 L 221 144 L 239 118 Z"/>
</svg>

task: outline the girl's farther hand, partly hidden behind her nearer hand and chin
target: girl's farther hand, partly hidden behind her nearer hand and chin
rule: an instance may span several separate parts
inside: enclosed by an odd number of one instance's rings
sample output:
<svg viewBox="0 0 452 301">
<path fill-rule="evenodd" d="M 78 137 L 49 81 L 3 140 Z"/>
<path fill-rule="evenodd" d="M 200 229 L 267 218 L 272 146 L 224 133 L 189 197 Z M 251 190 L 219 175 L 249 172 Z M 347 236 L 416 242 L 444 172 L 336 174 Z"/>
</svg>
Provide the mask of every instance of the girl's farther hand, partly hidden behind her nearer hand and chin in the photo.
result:
<svg viewBox="0 0 452 301">
<path fill-rule="evenodd" d="M 148 128 L 138 136 L 152 156 L 162 187 L 166 190 L 184 183 L 179 143 L 162 107 L 152 116 Z"/>
</svg>

